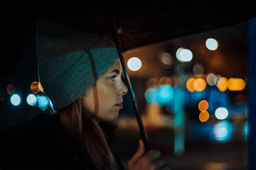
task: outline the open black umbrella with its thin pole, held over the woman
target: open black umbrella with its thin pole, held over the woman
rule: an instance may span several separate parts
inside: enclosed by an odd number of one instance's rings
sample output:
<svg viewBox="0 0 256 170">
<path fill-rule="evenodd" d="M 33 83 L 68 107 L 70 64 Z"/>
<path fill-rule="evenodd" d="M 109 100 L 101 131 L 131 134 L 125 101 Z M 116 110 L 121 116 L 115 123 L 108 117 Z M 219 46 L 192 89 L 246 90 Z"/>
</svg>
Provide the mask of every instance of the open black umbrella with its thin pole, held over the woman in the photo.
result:
<svg viewBox="0 0 256 170">
<path fill-rule="evenodd" d="M 95 6 L 97 3 L 103 3 L 104 6 Z M 92 6 L 93 9 L 91 9 Z M 39 9 L 34 6 L 29 10 L 23 5 L 12 11 L 2 11 L 2 14 L 4 16 L 2 32 L 8 32 L 4 34 L 3 49 L 6 50 L 6 58 L 11 55 L 9 52 L 12 51 L 12 57 L 10 56 L 8 60 L 12 67 L 7 68 L 4 62 L 1 62 L 1 69 L 3 69 L 1 73 L 5 75 L 21 74 L 36 68 L 35 56 L 32 57 L 34 62 L 29 62 L 31 55 L 28 56 L 27 50 L 20 55 L 20 50 L 13 51 L 13 47 L 22 49 L 20 45 L 24 44 L 26 30 L 35 24 L 42 14 L 46 17 L 56 17 L 58 20 L 65 18 L 62 21 L 68 21 L 67 23 L 76 26 L 76 29 L 113 39 L 118 48 L 125 78 L 129 83 L 131 101 L 146 150 L 149 150 L 147 134 L 138 113 L 122 52 L 188 34 L 236 25 L 256 16 L 252 3 L 240 1 L 169 1 L 168 3 L 148 1 L 147 4 L 129 2 L 125 5 L 117 4 L 115 7 L 112 6 L 111 1 L 108 3 L 97 1 L 95 4 L 82 6 L 82 9 L 79 4 L 70 2 L 66 4 L 66 8 L 61 8 L 61 10 L 58 4 L 44 4 Z M 13 56 L 19 62 L 15 62 Z"/>
</svg>

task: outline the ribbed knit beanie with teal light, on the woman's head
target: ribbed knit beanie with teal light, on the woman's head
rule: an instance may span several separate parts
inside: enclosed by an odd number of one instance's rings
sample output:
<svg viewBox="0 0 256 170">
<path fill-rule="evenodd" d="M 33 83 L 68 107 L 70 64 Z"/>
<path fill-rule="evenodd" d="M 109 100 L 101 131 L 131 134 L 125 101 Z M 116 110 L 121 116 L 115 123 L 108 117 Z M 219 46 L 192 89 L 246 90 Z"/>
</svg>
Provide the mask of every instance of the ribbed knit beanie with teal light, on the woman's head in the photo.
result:
<svg viewBox="0 0 256 170">
<path fill-rule="evenodd" d="M 116 60 L 115 43 L 53 20 L 36 25 L 38 78 L 58 111 L 74 103 Z"/>
</svg>

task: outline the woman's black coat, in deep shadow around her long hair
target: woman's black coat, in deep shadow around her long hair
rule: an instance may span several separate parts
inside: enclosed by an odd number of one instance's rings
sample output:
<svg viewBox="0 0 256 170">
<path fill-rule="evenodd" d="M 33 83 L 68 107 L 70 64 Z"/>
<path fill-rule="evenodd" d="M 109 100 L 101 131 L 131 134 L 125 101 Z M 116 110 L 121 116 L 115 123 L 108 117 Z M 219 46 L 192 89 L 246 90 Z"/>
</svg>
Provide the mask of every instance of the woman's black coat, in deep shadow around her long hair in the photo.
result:
<svg viewBox="0 0 256 170">
<path fill-rule="evenodd" d="M 56 115 L 39 114 L 0 135 L 0 169 L 96 169 Z"/>
</svg>

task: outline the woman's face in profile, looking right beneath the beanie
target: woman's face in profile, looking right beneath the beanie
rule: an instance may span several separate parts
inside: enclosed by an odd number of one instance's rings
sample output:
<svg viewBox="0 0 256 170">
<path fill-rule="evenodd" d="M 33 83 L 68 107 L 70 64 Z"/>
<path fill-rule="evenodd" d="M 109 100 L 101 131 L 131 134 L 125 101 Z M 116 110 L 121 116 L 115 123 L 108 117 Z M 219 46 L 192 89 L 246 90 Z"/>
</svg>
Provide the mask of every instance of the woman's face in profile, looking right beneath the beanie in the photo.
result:
<svg viewBox="0 0 256 170">
<path fill-rule="evenodd" d="M 128 89 L 121 78 L 122 67 L 116 60 L 96 83 L 86 90 L 83 96 L 83 107 L 93 114 L 95 122 L 115 120 L 122 108 L 122 96 Z"/>
</svg>

